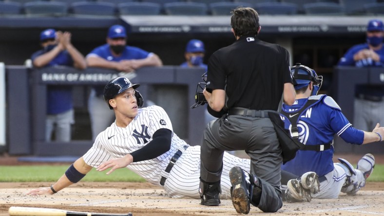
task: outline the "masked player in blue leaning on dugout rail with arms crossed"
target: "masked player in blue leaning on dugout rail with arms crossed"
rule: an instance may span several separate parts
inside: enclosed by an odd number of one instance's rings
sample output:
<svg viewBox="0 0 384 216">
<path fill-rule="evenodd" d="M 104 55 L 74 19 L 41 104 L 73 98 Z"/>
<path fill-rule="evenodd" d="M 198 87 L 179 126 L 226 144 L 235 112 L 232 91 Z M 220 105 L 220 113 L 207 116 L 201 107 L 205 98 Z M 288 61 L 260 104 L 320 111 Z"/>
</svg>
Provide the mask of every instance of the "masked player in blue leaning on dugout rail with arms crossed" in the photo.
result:
<svg viewBox="0 0 384 216">
<path fill-rule="evenodd" d="M 88 66 L 113 69 L 119 72 L 133 72 L 145 66 L 162 66 L 160 58 L 137 47 L 126 46 L 127 34 L 121 25 L 113 25 L 108 30 L 107 43 L 96 47 L 86 56 Z M 102 97 L 103 87 L 91 91 L 88 110 L 91 119 L 92 137 L 110 126 L 114 113 L 105 107 Z"/>
</svg>

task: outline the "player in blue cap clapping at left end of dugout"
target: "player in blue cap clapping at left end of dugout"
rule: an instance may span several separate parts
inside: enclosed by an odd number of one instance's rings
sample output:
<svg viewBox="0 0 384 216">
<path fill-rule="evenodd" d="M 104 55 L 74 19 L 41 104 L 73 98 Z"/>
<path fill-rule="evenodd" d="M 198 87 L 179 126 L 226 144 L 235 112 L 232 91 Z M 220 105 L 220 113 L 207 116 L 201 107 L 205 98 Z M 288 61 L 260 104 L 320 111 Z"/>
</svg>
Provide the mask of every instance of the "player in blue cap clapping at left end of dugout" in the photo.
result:
<svg viewBox="0 0 384 216">
<path fill-rule="evenodd" d="M 31 57 L 35 68 L 57 65 L 77 69 L 87 67 L 84 56 L 72 45 L 69 32 L 62 33 L 54 29 L 46 29 L 40 34 L 40 45 L 43 49 L 35 52 Z M 45 140 L 51 140 L 52 131 L 55 128 L 56 141 L 69 142 L 71 125 L 74 122 L 72 87 L 48 86 Z"/>
</svg>

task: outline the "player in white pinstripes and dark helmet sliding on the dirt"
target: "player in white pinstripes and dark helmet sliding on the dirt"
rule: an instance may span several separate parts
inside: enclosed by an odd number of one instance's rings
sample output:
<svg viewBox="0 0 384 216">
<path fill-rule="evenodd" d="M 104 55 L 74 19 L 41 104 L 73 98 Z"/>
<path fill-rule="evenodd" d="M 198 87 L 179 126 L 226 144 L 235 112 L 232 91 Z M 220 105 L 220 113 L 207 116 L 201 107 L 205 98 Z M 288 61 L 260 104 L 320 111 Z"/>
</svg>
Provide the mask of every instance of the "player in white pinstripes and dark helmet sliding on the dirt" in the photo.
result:
<svg viewBox="0 0 384 216">
<path fill-rule="evenodd" d="M 163 108 L 139 108 L 143 98 L 126 77 L 117 77 L 104 88 L 104 99 L 114 109 L 116 120 L 101 132 L 95 143 L 51 187 L 30 191 L 31 195 L 54 194 L 76 183 L 92 167 L 110 174 L 127 167 L 159 186 L 173 198 L 200 198 L 200 146 L 189 146 L 173 132 Z M 172 161 L 172 162 L 171 162 Z M 230 198 L 230 168 L 250 171 L 250 160 L 224 154 L 221 198 Z"/>
</svg>

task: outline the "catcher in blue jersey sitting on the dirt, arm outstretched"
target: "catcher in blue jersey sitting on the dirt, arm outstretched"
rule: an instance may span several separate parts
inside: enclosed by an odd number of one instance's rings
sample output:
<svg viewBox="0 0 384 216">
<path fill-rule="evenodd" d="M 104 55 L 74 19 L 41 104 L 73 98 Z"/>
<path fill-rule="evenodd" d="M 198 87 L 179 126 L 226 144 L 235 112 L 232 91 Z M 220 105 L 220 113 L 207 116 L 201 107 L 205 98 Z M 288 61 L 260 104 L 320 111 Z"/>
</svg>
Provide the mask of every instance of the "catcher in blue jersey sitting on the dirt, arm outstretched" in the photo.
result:
<svg viewBox="0 0 384 216">
<path fill-rule="evenodd" d="M 337 134 L 351 144 L 379 142 L 383 139 L 384 127 L 377 124 L 372 132 L 352 127 L 331 97 L 317 95 L 322 79 L 314 70 L 296 64 L 291 67 L 291 73 L 296 81 L 296 100 L 292 106 L 283 104 L 281 117 L 292 137 L 305 144 L 305 148 L 283 164 L 282 170 L 298 176 L 308 171 L 316 172 L 320 192 L 313 195 L 314 198 L 338 198 L 340 191 L 355 194 L 365 186 L 375 159 L 373 155 L 366 154 L 356 169 L 344 159 L 333 163 L 333 136 Z M 298 180 L 289 180 L 287 186 L 288 201 L 306 201 L 302 199 L 306 192 L 299 189 Z"/>
</svg>

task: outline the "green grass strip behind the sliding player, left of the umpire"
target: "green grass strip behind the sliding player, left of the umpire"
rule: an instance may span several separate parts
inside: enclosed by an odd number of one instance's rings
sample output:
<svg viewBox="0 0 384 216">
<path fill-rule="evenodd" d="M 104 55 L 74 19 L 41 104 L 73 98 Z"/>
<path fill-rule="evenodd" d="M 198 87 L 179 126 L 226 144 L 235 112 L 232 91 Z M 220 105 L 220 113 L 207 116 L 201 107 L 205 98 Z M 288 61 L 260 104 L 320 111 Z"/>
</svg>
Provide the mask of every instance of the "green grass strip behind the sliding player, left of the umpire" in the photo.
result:
<svg viewBox="0 0 384 216">
<path fill-rule="evenodd" d="M 69 165 L 0 166 L 0 182 L 57 181 L 68 167 Z M 106 173 L 107 171 L 98 172 L 92 169 L 81 181 L 145 182 L 126 168 L 117 169 L 110 175 Z"/>
</svg>

